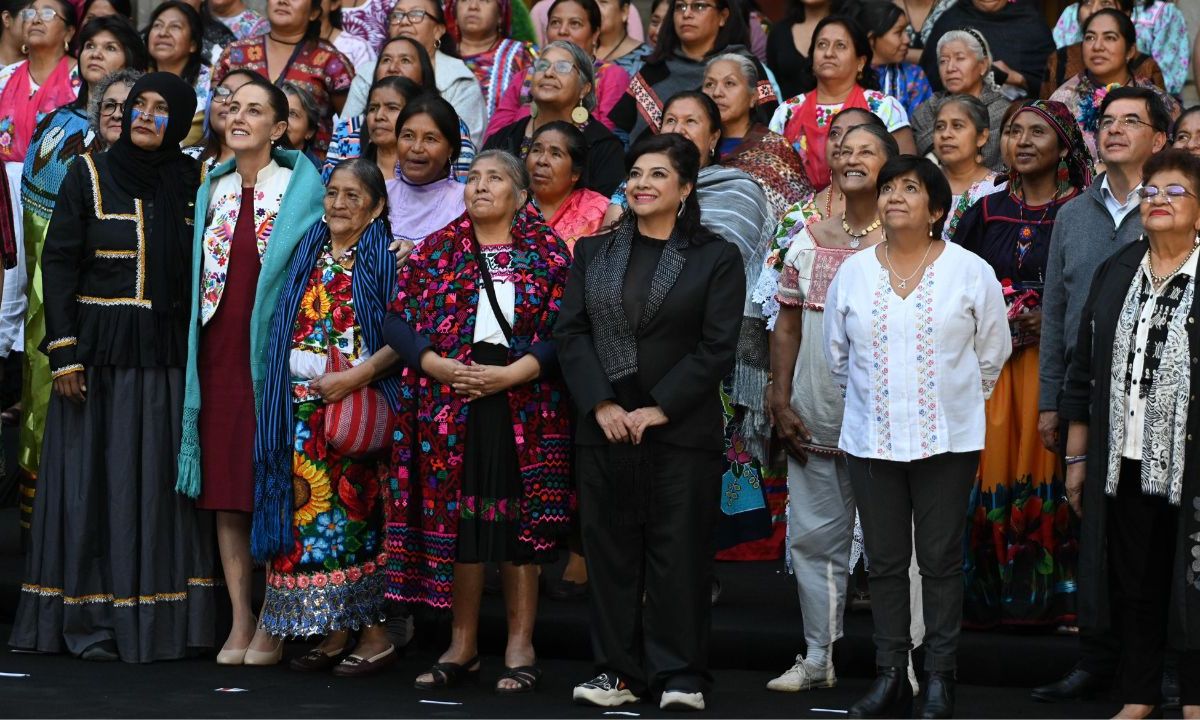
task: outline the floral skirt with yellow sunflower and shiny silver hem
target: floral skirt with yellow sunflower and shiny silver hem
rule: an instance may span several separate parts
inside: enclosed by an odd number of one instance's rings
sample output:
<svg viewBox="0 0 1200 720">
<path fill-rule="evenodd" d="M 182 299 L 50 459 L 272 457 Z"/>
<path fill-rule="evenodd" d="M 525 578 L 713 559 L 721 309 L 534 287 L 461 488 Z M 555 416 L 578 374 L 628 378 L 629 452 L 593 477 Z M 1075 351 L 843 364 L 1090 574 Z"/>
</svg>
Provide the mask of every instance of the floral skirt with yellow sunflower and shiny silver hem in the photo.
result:
<svg viewBox="0 0 1200 720">
<path fill-rule="evenodd" d="M 325 404 L 293 403 L 293 535 L 266 572 L 263 626 L 305 637 L 384 619 L 386 553 L 379 487 L 386 455 L 344 457 L 325 440 Z"/>
</svg>

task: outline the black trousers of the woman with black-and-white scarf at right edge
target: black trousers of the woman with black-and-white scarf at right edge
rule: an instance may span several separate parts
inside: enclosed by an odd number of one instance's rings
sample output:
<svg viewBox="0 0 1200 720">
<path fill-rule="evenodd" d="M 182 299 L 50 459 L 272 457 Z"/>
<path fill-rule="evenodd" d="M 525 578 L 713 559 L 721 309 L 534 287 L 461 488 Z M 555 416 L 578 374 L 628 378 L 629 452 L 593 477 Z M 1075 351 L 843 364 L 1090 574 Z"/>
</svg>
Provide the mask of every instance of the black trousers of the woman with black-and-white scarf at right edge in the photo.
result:
<svg viewBox="0 0 1200 720">
<path fill-rule="evenodd" d="M 1122 460 L 1117 497 L 1108 499 L 1109 590 L 1121 635 L 1116 695 L 1158 704 L 1180 509 L 1142 494 L 1140 475 L 1140 462 Z M 1180 653 L 1178 670 L 1181 702 L 1200 704 L 1200 653 Z"/>
</svg>

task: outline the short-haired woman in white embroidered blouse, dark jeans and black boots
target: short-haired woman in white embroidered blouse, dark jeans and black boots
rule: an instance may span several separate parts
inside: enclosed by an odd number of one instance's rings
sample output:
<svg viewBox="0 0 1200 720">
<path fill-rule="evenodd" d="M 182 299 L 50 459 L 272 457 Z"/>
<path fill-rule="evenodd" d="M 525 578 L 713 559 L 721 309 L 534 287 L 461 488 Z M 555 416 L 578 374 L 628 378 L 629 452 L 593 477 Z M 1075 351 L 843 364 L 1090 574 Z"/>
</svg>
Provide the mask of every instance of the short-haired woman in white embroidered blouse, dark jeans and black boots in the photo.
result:
<svg viewBox="0 0 1200 720">
<path fill-rule="evenodd" d="M 826 298 L 826 358 L 846 391 L 847 455 L 871 558 L 875 683 L 852 718 L 911 716 L 908 563 L 916 526 L 925 614 L 924 718 L 954 713 L 964 508 L 984 442 L 984 401 L 1012 352 L 1000 282 L 942 240 L 950 188 L 932 162 L 888 161 L 887 240 L 846 260 Z"/>
</svg>

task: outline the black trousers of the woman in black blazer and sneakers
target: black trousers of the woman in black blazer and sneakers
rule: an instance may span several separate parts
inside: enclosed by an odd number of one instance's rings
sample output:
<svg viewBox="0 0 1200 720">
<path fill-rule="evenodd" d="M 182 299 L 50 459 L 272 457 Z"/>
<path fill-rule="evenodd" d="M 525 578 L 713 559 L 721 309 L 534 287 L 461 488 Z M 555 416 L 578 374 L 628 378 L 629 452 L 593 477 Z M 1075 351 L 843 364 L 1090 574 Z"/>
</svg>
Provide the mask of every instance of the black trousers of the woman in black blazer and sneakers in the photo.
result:
<svg viewBox="0 0 1200 720">
<path fill-rule="evenodd" d="M 629 449 L 576 449 L 596 672 L 638 696 L 703 692 L 721 455 L 643 444 L 631 470 L 614 454 Z"/>
</svg>

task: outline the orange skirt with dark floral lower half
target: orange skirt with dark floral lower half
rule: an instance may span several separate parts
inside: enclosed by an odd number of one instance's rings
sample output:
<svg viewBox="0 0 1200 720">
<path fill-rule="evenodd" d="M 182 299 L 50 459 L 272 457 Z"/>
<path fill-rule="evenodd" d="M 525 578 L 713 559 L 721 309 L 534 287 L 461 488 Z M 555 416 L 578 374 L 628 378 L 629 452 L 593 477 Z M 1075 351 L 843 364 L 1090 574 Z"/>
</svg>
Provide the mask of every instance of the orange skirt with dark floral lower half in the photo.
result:
<svg viewBox="0 0 1200 720">
<path fill-rule="evenodd" d="M 1038 348 L 1015 350 L 988 401 L 964 539 L 967 626 L 1075 620 L 1079 535 L 1058 458 L 1038 434 Z"/>
</svg>

